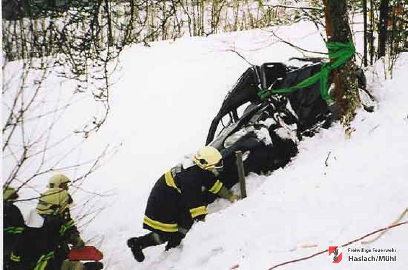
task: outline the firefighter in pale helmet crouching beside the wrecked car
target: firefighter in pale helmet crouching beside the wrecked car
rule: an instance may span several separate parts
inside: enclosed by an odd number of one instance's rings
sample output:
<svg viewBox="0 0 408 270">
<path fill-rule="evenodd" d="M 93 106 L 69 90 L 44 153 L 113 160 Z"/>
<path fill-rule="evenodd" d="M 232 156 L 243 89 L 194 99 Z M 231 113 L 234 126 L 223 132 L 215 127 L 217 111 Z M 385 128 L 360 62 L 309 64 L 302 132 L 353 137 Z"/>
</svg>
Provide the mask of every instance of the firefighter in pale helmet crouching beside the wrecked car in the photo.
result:
<svg viewBox="0 0 408 270">
<path fill-rule="evenodd" d="M 205 146 L 159 178 L 150 193 L 143 219 L 143 228 L 151 232 L 127 240 L 137 261 L 144 260 L 144 248 L 165 242 L 166 250 L 177 247 L 193 222 L 204 220 L 207 192 L 231 202 L 237 199 L 217 178 L 222 166 L 218 150 Z"/>
</svg>

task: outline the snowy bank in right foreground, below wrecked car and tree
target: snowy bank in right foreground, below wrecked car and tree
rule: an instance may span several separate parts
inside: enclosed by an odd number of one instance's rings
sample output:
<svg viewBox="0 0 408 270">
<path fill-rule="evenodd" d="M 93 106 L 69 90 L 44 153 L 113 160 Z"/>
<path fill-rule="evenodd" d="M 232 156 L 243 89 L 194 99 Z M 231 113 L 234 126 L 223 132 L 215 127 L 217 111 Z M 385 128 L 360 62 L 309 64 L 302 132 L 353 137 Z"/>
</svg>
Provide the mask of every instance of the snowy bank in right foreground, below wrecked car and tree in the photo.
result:
<svg viewBox="0 0 408 270">
<path fill-rule="evenodd" d="M 236 264 L 239 269 L 268 269 L 389 225 L 408 206 L 408 95 L 404 83 L 408 58 L 399 63 L 394 80 L 375 89 L 378 110 L 359 112 L 351 138 L 335 125 L 305 139 L 299 155 L 285 169 L 247 178 L 247 199 L 196 224 L 182 247 L 169 252 L 162 247 L 147 249 L 146 261 L 141 265 L 133 262 L 135 269 L 230 269 Z M 407 237 L 404 225 L 373 244 L 357 242 L 348 247 L 394 248 L 397 252 L 350 253 L 344 248 L 343 261 L 336 267 L 404 269 Z M 349 255 L 372 254 L 396 255 L 397 261 L 347 261 Z M 327 255 L 282 268 L 328 268 Z M 132 267 L 128 263 L 121 260 L 120 265 Z"/>
</svg>

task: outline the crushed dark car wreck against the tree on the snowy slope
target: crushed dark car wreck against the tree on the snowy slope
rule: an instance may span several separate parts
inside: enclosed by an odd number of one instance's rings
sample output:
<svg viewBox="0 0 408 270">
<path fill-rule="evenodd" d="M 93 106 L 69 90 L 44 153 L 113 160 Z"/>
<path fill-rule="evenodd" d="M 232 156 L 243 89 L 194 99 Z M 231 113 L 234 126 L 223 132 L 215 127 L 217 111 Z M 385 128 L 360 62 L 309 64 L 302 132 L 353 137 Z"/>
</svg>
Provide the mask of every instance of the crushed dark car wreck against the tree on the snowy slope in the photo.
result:
<svg viewBox="0 0 408 270">
<path fill-rule="evenodd" d="M 235 151 L 243 153 L 246 174 L 267 173 L 284 167 L 297 154 L 297 144 L 304 136 L 313 136 L 336 120 L 336 105 L 322 98 L 319 82 L 260 97 L 261 89 L 294 86 L 319 72 L 324 64 L 322 59 L 296 60 L 308 63 L 301 67 L 264 63 L 248 68 L 225 97 L 211 123 L 206 145 L 217 148 L 223 156 L 220 178 L 226 187 L 238 182 Z M 363 107 L 372 111 L 374 99 L 366 90 L 364 72 L 358 70 L 357 75 Z"/>
</svg>

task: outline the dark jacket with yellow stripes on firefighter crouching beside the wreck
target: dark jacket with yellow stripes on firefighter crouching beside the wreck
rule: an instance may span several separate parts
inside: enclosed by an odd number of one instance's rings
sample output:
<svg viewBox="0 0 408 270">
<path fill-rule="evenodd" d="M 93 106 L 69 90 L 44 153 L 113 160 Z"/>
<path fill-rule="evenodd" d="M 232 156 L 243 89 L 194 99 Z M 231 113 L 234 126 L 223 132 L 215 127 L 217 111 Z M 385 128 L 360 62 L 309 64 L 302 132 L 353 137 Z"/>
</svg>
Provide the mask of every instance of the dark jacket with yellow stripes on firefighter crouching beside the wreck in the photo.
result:
<svg viewBox="0 0 408 270">
<path fill-rule="evenodd" d="M 207 214 L 206 193 L 217 194 L 222 182 L 197 165 L 178 165 L 167 171 L 152 188 L 143 228 L 157 233 L 190 229 L 194 219 Z"/>
</svg>

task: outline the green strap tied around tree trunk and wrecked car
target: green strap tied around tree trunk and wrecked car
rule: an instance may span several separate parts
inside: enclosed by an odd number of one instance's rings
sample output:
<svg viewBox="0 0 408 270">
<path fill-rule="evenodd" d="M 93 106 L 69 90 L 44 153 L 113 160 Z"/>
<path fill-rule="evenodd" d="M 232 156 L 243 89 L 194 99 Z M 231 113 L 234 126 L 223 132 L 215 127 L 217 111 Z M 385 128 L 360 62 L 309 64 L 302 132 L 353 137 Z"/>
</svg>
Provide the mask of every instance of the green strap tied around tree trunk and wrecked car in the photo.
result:
<svg viewBox="0 0 408 270">
<path fill-rule="evenodd" d="M 330 72 L 338 68 L 339 66 L 345 64 L 355 53 L 355 47 L 352 41 L 348 43 L 340 43 L 340 42 L 326 42 L 326 46 L 328 49 L 328 55 L 330 60 L 335 59 L 333 63 L 325 63 L 322 65 L 320 72 L 314 74 L 313 76 L 302 80 L 300 83 L 288 87 L 288 88 L 281 88 L 281 89 L 262 89 L 258 92 L 258 95 L 261 97 L 262 100 L 268 98 L 273 93 L 291 93 L 297 91 L 299 89 L 311 86 L 320 80 L 320 94 L 322 98 L 326 101 L 330 100 L 331 97 L 328 94 L 329 85 L 328 79 Z"/>
</svg>

